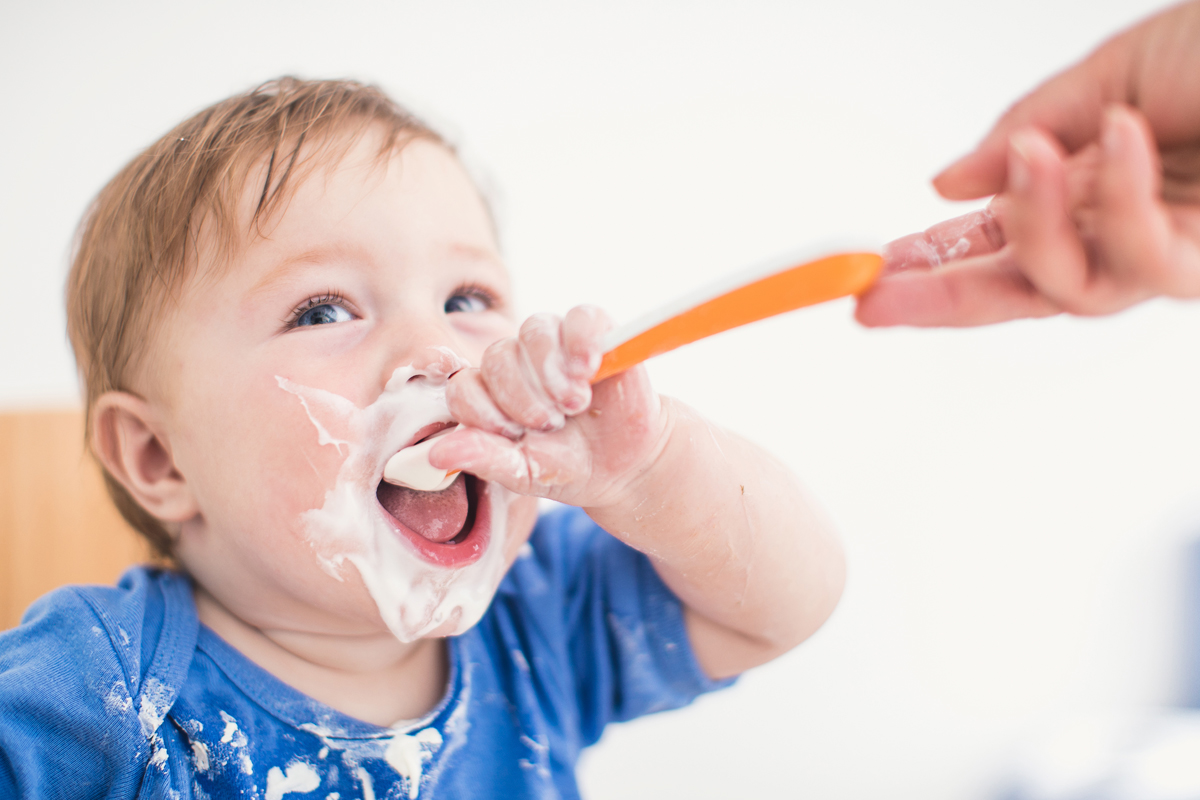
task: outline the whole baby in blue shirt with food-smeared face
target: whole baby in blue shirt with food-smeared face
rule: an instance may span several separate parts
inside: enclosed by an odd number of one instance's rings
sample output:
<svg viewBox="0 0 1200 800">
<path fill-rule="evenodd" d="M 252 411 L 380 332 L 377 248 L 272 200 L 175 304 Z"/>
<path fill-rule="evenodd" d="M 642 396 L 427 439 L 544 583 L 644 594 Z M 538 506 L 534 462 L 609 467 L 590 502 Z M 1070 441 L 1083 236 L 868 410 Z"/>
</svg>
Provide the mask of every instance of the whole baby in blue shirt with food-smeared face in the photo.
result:
<svg viewBox="0 0 1200 800">
<path fill-rule="evenodd" d="M 590 385 L 602 313 L 517 326 L 476 187 L 373 88 L 181 124 L 101 192 L 67 305 L 89 444 L 172 569 L 0 634 L 0 796 L 575 798 L 606 723 L 841 593 L 779 462 L 642 368 Z M 437 486 L 383 480 L 431 438 Z"/>
</svg>

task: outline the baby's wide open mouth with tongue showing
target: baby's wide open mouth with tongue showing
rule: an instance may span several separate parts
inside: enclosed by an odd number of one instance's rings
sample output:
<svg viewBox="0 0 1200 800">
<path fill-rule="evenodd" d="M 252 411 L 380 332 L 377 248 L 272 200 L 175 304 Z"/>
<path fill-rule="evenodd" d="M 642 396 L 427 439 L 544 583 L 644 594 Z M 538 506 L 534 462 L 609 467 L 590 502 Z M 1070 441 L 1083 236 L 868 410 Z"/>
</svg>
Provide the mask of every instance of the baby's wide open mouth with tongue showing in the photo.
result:
<svg viewBox="0 0 1200 800">
<path fill-rule="evenodd" d="M 491 509 L 485 488 L 474 475 L 460 473 L 437 492 L 380 481 L 376 498 L 396 535 L 419 555 L 439 566 L 461 567 L 487 548 Z"/>
</svg>

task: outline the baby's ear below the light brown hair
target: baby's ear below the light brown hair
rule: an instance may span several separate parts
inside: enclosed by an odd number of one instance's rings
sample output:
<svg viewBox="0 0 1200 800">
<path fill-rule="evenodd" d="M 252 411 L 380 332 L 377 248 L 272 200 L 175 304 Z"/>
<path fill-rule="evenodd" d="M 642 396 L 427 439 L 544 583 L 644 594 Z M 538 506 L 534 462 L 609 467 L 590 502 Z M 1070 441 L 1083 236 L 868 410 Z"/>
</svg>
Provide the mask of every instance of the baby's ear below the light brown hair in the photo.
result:
<svg viewBox="0 0 1200 800">
<path fill-rule="evenodd" d="M 96 458 L 137 503 L 162 522 L 199 513 L 154 409 L 128 392 L 106 392 L 91 407 Z"/>
</svg>

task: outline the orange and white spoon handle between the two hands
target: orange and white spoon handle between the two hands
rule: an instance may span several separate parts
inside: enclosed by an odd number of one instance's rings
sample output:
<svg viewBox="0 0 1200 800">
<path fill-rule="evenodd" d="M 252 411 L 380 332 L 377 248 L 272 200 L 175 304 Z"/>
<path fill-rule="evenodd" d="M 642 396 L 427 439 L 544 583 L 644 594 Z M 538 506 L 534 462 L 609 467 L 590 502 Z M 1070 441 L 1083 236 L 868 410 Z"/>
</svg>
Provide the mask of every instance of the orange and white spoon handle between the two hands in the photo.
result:
<svg viewBox="0 0 1200 800">
<path fill-rule="evenodd" d="M 763 277 L 751 277 L 733 288 L 708 290 L 700 297 L 672 303 L 610 333 L 600 371 L 592 383 L 706 336 L 860 294 L 875 282 L 882 266 L 883 257 L 870 252 L 836 253 L 802 264 L 788 260 L 781 269 L 768 269 Z M 755 272 L 762 275 L 762 271 Z"/>
</svg>

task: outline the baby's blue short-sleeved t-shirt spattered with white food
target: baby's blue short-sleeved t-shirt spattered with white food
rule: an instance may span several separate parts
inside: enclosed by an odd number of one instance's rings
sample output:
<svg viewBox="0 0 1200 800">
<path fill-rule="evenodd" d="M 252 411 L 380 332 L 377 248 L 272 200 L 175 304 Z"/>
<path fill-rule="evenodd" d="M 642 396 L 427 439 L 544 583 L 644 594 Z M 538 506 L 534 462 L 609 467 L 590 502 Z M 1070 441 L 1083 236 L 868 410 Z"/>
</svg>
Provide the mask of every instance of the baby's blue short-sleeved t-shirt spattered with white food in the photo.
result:
<svg viewBox="0 0 1200 800">
<path fill-rule="evenodd" d="M 136 567 L 0 633 L 0 798 L 577 798 L 612 721 L 726 685 L 679 601 L 577 509 L 544 516 L 425 718 L 382 728 L 283 684 L 200 625 L 191 584 Z"/>
</svg>

